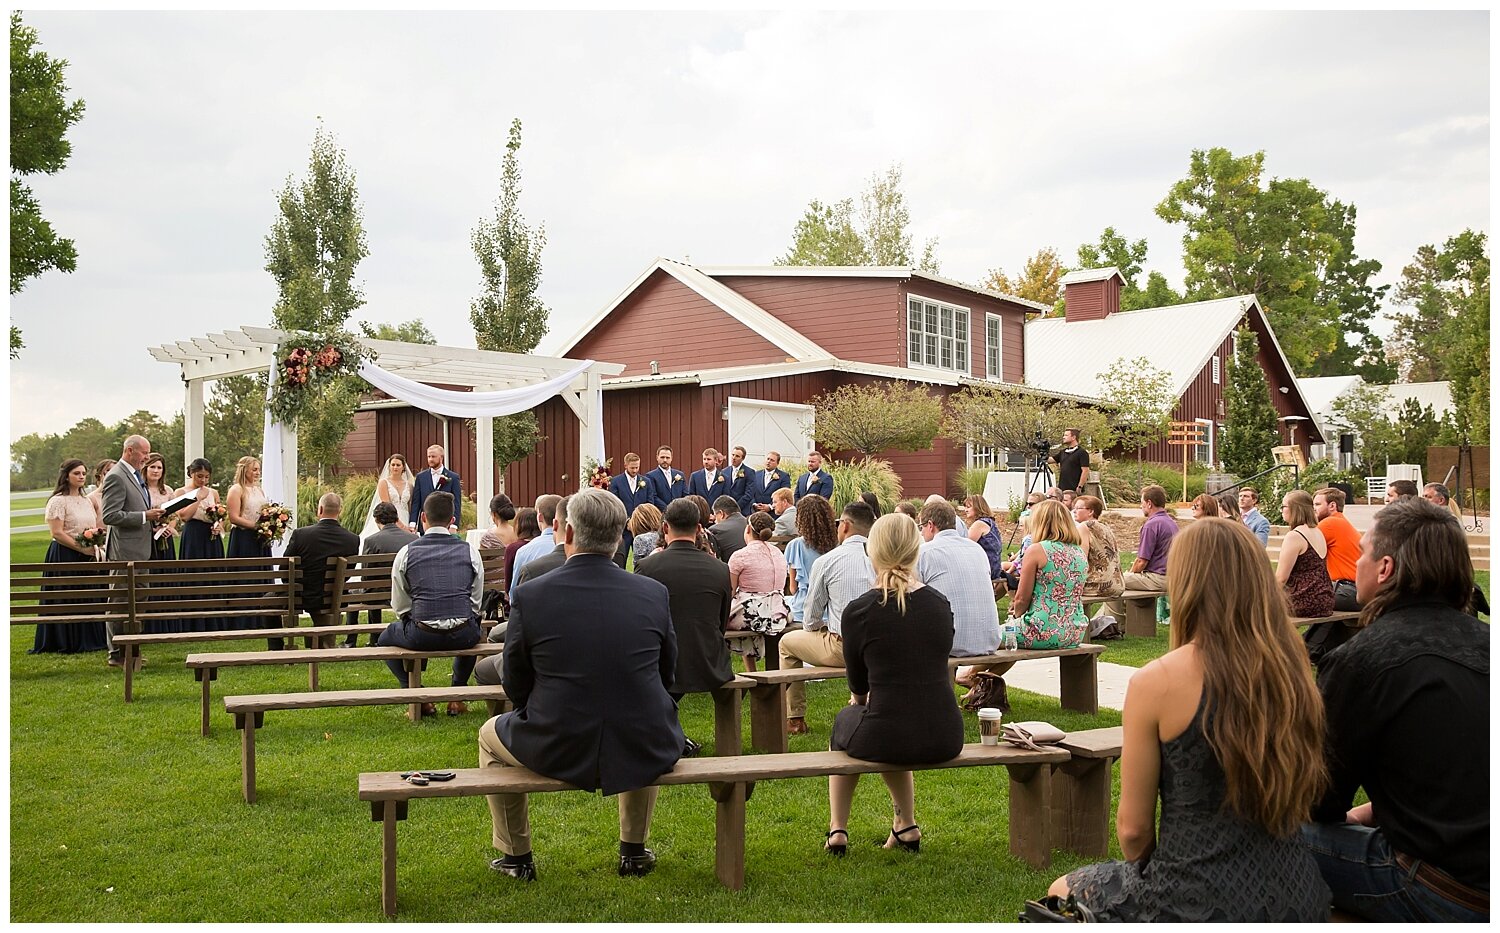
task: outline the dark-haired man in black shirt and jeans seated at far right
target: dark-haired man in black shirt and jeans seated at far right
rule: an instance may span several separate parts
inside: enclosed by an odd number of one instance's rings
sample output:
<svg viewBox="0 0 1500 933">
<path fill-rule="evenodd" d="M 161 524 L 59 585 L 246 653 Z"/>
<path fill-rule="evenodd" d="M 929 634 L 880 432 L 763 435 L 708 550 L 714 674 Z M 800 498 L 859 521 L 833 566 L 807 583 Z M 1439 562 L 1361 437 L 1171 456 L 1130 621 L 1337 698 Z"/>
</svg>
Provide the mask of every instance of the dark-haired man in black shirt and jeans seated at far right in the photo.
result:
<svg viewBox="0 0 1500 933">
<path fill-rule="evenodd" d="M 1359 550 L 1366 628 L 1318 669 L 1329 784 L 1302 840 L 1336 908 L 1488 921 L 1490 627 L 1464 612 L 1464 531 L 1410 498 L 1380 510 Z M 1350 808 L 1359 788 L 1370 802 Z"/>
</svg>

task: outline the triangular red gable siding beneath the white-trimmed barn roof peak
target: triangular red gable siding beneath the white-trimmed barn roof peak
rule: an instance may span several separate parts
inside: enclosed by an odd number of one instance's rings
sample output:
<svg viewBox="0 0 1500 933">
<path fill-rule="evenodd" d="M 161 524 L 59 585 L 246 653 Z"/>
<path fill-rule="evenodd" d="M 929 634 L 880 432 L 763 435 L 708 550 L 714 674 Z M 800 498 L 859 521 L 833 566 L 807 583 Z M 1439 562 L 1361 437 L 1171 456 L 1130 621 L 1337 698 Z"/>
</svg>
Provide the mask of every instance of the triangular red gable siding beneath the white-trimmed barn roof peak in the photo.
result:
<svg viewBox="0 0 1500 933">
<path fill-rule="evenodd" d="M 568 356 L 624 363 L 621 375 L 780 363 L 786 351 L 735 321 L 670 274 L 654 272 Z"/>
</svg>

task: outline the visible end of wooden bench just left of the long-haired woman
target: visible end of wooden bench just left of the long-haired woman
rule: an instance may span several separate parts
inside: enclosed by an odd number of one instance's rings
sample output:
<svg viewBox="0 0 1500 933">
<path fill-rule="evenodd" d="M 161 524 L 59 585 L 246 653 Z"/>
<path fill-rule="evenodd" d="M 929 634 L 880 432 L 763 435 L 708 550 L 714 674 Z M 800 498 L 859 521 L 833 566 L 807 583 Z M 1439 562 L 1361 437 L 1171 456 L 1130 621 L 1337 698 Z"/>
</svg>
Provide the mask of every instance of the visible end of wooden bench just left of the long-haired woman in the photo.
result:
<svg viewBox="0 0 1500 933">
<path fill-rule="evenodd" d="M 1104 858 L 1110 850 L 1110 768 L 1124 726 L 1070 732 L 1058 742 L 1072 758 L 1052 765 L 1052 844 Z"/>
</svg>

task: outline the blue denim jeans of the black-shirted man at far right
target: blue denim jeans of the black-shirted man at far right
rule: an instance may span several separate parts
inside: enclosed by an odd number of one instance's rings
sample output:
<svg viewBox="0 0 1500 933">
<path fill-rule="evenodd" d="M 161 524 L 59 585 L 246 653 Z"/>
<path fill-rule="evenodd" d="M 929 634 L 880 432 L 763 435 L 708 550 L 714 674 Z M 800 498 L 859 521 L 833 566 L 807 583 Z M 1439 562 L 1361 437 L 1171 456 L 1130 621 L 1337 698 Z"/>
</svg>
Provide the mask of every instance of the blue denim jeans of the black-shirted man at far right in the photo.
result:
<svg viewBox="0 0 1500 933">
<path fill-rule="evenodd" d="M 1306 824 L 1302 843 L 1312 852 L 1334 906 L 1377 922 L 1488 922 L 1434 894 L 1396 864 L 1386 834 L 1359 824 Z"/>
</svg>

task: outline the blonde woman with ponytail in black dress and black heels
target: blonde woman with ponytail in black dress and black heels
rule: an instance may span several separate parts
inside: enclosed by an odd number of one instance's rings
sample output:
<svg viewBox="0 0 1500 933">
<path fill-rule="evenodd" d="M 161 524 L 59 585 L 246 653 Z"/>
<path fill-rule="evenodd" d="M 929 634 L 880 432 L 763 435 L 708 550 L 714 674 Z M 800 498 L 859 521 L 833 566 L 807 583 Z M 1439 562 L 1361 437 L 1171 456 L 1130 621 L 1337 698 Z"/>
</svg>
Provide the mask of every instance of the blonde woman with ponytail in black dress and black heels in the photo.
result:
<svg viewBox="0 0 1500 933">
<path fill-rule="evenodd" d="M 916 579 L 921 534 L 904 514 L 886 514 L 870 530 L 874 588 L 850 602 L 843 614 L 844 668 L 849 705 L 834 720 L 830 748 L 873 762 L 927 765 L 945 762 L 963 748 L 963 717 L 952 699 L 948 652 L 952 650 L 952 609 L 948 598 Z M 891 792 L 894 818 L 886 849 L 916 852 L 910 771 L 880 774 Z M 828 842 L 831 855 L 849 848 L 849 807 L 858 774 L 828 778 Z"/>
</svg>

